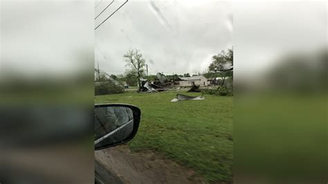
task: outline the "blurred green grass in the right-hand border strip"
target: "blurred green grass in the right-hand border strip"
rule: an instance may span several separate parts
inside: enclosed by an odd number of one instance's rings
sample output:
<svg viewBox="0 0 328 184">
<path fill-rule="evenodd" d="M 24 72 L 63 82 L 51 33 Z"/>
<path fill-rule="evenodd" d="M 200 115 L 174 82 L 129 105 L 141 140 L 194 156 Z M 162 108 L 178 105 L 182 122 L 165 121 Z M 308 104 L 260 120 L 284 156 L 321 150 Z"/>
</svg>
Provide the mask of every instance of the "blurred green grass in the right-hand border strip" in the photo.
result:
<svg viewBox="0 0 328 184">
<path fill-rule="evenodd" d="M 239 95 L 235 168 L 266 183 L 327 183 L 327 99 L 327 93 Z"/>
</svg>

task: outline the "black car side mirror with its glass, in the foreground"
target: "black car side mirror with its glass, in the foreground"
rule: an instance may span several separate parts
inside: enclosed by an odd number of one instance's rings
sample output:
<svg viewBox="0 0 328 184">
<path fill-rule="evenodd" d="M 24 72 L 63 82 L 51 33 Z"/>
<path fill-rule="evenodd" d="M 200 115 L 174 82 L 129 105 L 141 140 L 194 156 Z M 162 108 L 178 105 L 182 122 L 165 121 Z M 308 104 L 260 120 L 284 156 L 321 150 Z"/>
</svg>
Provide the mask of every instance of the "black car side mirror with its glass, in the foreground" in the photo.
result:
<svg viewBox="0 0 328 184">
<path fill-rule="evenodd" d="M 127 104 L 95 105 L 95 150 L 125 143 L 136 135 L 140 109 Z"/>
</svg>

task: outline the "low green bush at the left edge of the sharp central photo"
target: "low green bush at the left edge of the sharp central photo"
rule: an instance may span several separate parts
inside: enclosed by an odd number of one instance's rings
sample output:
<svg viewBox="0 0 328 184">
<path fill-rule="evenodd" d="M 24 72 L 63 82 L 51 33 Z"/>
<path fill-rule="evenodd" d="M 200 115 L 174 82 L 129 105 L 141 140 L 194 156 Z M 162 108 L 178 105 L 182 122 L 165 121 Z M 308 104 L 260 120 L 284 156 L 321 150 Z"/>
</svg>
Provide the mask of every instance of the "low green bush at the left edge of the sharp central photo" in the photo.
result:
<svg viewBox="0 0 328 184">
<path fill-rule="evenodd" d="M 124 93 L 124 87 L 111 81 L 95 84 L 95 95 L 110 95 L 116 93 Z"/>
</svg>

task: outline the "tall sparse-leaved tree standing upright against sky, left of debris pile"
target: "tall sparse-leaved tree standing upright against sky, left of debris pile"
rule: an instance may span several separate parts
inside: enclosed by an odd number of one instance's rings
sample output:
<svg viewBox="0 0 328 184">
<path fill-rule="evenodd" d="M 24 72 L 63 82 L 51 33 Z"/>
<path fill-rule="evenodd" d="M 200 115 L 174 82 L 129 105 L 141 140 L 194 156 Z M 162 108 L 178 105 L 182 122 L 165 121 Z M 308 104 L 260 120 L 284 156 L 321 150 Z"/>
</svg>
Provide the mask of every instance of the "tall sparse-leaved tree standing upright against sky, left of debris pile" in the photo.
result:
<svg viewBox="0 0 328 184">
<path fill-rule="evenodd" d="M 141 88 L 141 81 L 140 77 L 143 76 L 145 72 L 145 59 L 143 59 L 143 55 L 140 53 L 140 50 L 133 49 L 127 51 L 125 55 L 123 55 L 125 58 L 125 62 L 127 62 L 127 66 L 130 67 L 131 71 L 134 71 L 136 73 L 136 77 L 138 77 L 138 86 L 139 90 Z"/>
</svg>

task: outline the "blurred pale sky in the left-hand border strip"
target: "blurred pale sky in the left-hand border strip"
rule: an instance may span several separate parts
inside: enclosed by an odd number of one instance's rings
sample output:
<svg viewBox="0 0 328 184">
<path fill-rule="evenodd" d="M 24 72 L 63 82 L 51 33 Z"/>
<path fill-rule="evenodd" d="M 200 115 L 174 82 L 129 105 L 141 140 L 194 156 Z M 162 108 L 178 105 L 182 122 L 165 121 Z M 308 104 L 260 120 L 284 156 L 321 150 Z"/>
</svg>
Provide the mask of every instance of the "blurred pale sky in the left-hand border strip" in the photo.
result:
<svg viewBox="0 0 328 184">
<path fill-rule="evenodd" d="M 93 0 L 1 1 L 0 75 L 93 75 Z"/>
</svg>

